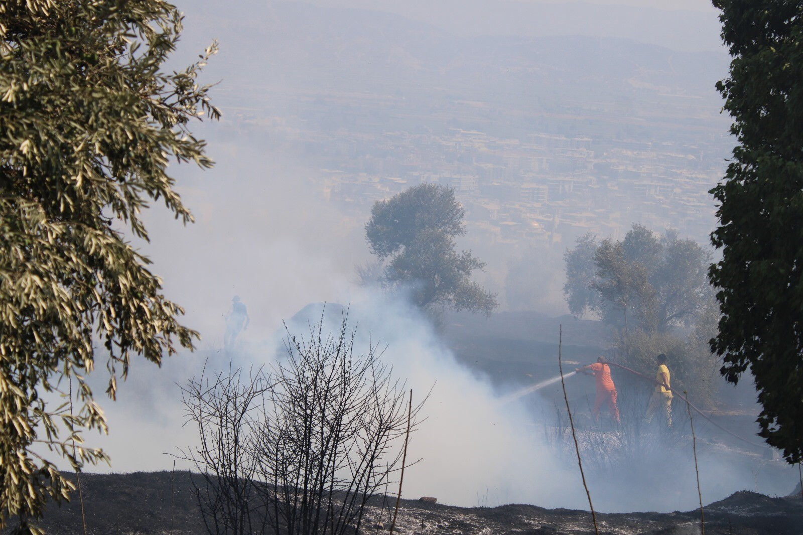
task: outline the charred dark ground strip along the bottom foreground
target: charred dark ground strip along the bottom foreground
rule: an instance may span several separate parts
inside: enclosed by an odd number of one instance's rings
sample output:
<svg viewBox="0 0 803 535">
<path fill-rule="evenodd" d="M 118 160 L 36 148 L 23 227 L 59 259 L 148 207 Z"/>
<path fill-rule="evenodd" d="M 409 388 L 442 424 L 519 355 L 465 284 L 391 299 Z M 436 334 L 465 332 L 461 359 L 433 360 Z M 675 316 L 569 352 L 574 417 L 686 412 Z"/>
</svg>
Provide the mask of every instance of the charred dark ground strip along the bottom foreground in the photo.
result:
<svg viewBox="0 0 803 535">
<path fill-rule="evenodd" d="M 189 472 L 137 472 L 82 476 L 88 533 L 190 535 L 207 533 L 198 514 Z M 389 530 L 393 497 L 375 496 L 365 515 L 363 533 Z M 384 507 L 383 507 L 384 505 Z M 756 492 L 736 492 L 705 508 L 706 533 L 775 533 L 803 531 L 800 497 L 771 498 Z M 384 521 L 384 522 L 383 522 Z M 600 533 L 666 535 L 699 533 L 699 510 L 686 513 L 612 513 L 597 515 Z M 384 527 L 379 527 L 380 523 Z M 51 535 L 83 533 L 78 496 L 51 505 L 42 523 Z M 534 505 L 460 508 L 402 500 L 394 533 L 487 533 L 536 535 L 593 533 L 591 515 L 571 509 Z"/>
</svg>

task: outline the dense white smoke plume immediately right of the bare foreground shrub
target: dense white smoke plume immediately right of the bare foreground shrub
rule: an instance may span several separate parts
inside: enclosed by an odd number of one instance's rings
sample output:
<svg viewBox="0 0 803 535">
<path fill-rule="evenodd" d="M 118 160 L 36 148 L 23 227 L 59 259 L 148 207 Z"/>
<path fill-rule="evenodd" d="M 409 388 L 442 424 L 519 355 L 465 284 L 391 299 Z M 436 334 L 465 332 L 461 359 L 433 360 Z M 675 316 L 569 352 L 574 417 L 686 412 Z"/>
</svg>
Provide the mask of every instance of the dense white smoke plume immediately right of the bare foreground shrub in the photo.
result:
<svg viewBox="0 0 803 535">
<path fill-rule="evenodd" d="M 404 496 L 436 496 L 449 504 L 477 506 L 525 500 L 546 507 L 581 507 L 580 476 L 558 463 L 536 432 L 520 402 L 503 405 L 491 385 L 460 366 L 429 322 L 409 305 L 373 292 L 358 292 L 349 320 L 359 329 L 365 350 L 368 336 L 385 347 L 383 361 L 413 389 L 414 402 L 429 393 L 423 422 L 410 441 L 412 459 Z M 338 326 L 339 307 L 329 329 Z M 303 332 L 311 307 L 291 322 Z M 560 481 L 544 485 L 544 480 Z"/>
</svg>

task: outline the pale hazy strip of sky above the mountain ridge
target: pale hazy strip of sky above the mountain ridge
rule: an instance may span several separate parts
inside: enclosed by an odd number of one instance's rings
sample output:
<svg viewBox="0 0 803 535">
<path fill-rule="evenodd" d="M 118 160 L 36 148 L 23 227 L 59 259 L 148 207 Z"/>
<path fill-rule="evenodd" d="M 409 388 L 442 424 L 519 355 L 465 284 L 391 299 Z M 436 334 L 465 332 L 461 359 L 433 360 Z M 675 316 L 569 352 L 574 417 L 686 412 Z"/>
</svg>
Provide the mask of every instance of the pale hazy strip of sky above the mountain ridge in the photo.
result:
<svg viewBox="0 0 803 535">
<path fill-rule="evenodd" d="M 286 1 L 286 0 L 285 0 Z M 721 48 L 718 10 L 705 0 L 289 0 L 300 6 L 377 10 L 439 28 L 455 36 L 588 35 L 632 39 L 676 51 L 712 51 Z M 267 21 L 283 0 L 179 1 L 187 14 L 186 29 L 193 32 L 195 15 L 211 20 Z M 344 14 L 332 13 L 337 19 Z M 213 25 L 213 27 L 215 27 Z M 218 27 L 225 34 L 225 30 Z M 267 25 L 266 25 L 267 31 Z M 216 35 L 222 37 L 222 35 Z"/>
</svg>

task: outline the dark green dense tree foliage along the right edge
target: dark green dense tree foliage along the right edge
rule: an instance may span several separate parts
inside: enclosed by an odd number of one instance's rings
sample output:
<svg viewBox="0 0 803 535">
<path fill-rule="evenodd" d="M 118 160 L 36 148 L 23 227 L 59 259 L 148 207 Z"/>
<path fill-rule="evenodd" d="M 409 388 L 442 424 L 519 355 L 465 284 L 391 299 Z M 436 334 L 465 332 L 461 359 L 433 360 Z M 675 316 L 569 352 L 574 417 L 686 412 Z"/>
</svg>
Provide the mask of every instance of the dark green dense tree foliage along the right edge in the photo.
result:
<svg viewBox="0 0 803 535">
<path fill-rule="evenodd" d="M 711 266 L 722 312 L 711 349 L 737 382 L 746 370 L 767 443 L 803 460 L 803 6 L 715 0 L 732 55 L 717 84 L 738 139 L 711 194 L 719 227 Z"/>
</svg>

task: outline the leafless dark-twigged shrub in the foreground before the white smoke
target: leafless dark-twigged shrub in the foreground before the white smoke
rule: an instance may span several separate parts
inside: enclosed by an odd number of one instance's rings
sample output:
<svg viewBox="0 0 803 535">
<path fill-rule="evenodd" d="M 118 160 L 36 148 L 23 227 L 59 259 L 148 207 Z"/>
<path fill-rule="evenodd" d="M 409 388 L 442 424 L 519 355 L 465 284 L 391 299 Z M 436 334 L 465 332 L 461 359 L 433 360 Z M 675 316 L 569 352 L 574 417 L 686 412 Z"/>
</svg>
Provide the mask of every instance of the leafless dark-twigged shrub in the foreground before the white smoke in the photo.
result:
<svg viewBox="0 0 803 535">
<path fill-rule="evenodd" d="M 269 373 L 245 381 L 238 370 L 185 387 L 202 443 L 186 457 L 202 472 L 209 533 L 359 532 L 368 500 L 397 482 L 405 385 L 377 345 L 356 352 L 348 313 L 336 333 L 323 323 L 306 337 L 286 329 Z M 413 429 L 424 401 L 412 407 Z"/>
</svg>

